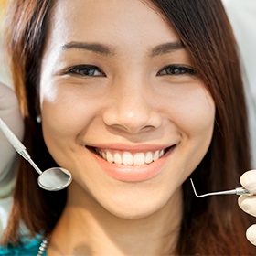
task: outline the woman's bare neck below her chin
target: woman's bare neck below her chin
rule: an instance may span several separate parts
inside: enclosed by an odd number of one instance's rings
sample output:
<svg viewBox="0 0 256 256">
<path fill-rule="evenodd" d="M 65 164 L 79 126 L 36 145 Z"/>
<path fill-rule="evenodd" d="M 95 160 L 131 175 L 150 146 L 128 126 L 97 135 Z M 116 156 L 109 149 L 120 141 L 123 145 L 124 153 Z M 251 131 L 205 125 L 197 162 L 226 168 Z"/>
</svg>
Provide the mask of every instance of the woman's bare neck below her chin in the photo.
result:
<svg viewBox="0 0 256 256">
<path fill-rule="evenodd" d="M 76 190 L 76 189 L 74 189 Z M 88 194 L 68 204 L 48 246 L 48 255 L 170 255 L 176 250 L 181 191 L 164 208 L 141 219 L 120 219 Z M 78 197 L 77 197 L 78 198 Z M 67 231 L 68 230 L 68 231 Z"/>
</svg>

